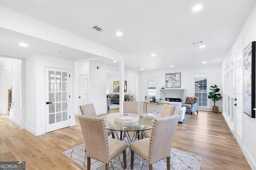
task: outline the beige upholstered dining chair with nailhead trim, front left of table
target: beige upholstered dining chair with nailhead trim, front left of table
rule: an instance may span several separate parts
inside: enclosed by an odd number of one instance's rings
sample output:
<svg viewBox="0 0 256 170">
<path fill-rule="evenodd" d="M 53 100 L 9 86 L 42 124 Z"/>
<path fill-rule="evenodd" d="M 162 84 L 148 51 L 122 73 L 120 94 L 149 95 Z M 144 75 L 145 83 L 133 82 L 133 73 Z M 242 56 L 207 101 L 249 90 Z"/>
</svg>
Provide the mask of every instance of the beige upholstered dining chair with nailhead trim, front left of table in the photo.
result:
<svg viewBox="0 0 256 170">
<path fill-rule="evenodd" d="M 78 115 L 78 119 L 86 146 L 87 170 L 90 170 L 91 158 L 103 162 L 105 170 L 108 170 L 109 162 L 120 153 L 123 153 L 124 169 L 126 169 L 127 144 L 108 137 L 104 119 L 84 115 Z"/>
</svg>

